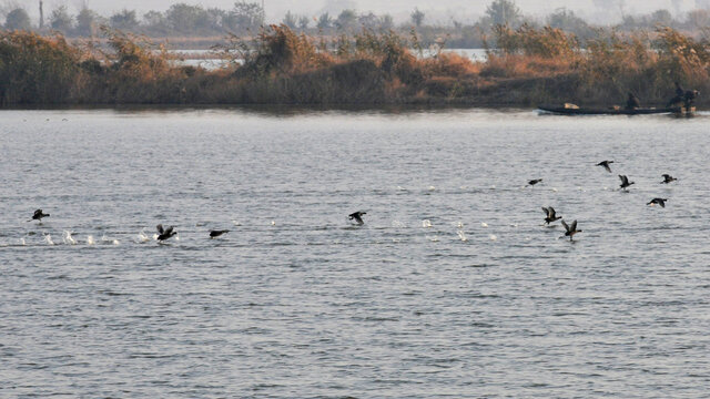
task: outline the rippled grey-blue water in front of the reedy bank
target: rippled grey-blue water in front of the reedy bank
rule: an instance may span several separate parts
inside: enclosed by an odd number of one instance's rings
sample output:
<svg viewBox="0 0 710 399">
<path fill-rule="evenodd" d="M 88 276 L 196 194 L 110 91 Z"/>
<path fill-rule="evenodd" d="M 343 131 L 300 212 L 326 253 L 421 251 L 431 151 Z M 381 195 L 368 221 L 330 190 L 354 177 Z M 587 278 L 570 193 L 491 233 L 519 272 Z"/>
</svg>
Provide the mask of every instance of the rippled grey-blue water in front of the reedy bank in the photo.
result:
<svg viewBox="0 0 710 399">
<path fill-rule="evenodd" d="M 707 396 L 710 114 L 0 116 L 0 397 Z"/>
</svg>

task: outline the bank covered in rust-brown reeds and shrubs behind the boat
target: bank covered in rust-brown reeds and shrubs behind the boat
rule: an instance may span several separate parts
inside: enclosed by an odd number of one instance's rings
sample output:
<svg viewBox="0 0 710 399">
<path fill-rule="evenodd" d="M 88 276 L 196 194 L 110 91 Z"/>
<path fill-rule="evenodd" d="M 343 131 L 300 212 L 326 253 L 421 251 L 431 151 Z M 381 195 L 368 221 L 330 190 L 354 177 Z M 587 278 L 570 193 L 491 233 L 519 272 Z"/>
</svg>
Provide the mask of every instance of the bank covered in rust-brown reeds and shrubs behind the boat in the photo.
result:
<svg viewBox="0 0 710 399">
<path fill-rule="evenodd" d="M 213 71 L 175 66 L 164 49 L 105 34 L 112 51 L 2 32 L 2 105 L 609 105 L 631 91 L 658 106 L 673 96 L 676 81 L 710 92 L 708 42 L 671 29 L 648 39 L 600 34 L 585 49 L 557 29 L 499 29 L 499 50 L 477 62 L 446 52 L 416 57 L 416 35 L 363 31 L 326 42 L 274 25 L 250 41 L 227 38 L 220 49 L 240 62 Z M 710 108 L 710 98 L 701 94 L 697 105 Z"/>
</svg>

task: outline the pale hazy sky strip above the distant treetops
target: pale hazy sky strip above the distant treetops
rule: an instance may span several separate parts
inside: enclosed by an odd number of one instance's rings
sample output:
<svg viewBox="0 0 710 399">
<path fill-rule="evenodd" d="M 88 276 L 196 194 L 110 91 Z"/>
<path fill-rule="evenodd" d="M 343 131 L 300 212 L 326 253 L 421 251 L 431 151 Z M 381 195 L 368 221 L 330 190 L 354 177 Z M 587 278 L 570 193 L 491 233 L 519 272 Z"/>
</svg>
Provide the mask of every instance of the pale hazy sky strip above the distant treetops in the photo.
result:
<svg viewBox="0 0 710 399">
<path fill-rule="evenodd" d="M 39 0 L 0 0 L 0 2 L 14 2 L 23 4 L 32 16 L 37 16 Z M 261 0 L 255 0 L 261 1 Z M 452 18 L 458 21 L 467 21 L 478 18 L 484 13 L 486 6 L 491 0 L 264 0 L 267 19 L 278 21 L 283 14 L 291 10 L 297 14 L 315 16 L 324 10 L 332 13 L 346 8 L 355 8 L 359 11 L 374 11 L 375 13 L 388 12 L 397 20 L 408 17 L 416 7 L 427 14 L 429 21 L 446 22 Z M 166 10 L 171 4 L 186 2 L 202 4 L 203 7 L 231 8 L 235 0 L 44 0 L 45 10 L 51 10 L 59 4 L 65 4 L 75 11 L 82 4 L 101 14 L 109 16 L 113 11 L 126 9 L 139 10 L 140 13 L 149 10 Z M 597 22 L 616 22 L 621 13 L 648 13 L 657 9 L 668 9 L 673 14 L 682 13 L 694 8 L 710 8 L 710 0 L 517 0 L 518 7 L 527 14 L 542 16 L 557 8 L 566 7 L 578 14 Z M 48 12 L 45 11 L 45 14 Z"/>
</svg>

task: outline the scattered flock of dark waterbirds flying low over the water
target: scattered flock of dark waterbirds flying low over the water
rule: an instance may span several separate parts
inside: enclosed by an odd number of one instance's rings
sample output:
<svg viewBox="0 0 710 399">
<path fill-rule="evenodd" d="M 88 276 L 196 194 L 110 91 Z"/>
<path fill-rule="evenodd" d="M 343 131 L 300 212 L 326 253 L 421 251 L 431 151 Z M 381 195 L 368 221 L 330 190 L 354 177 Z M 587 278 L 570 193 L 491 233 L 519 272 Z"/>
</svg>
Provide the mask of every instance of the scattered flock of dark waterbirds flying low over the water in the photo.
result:
<svg viewBox="0 0 710 399">
<path fill-rule="evenodd" d="M 610 164 L 612 164 L 613 161 L 601 161 L 597 164 L 597 166 L 601 166 L 604 167 L 607 172 L 611 173 L 611 166 Z M 663 181 L 660 182 L 661 184 L 669 184 L 672 182 L 676 182 L 678 178 L 669 175 L 669 174 L 662 174 L 661 177 L 663 177 Z M 619 185 L 619 190 L 623 190 L 623 191 L 628 191 L 628 188 L 636 184 L 636 182 L 630 182 L 629 177 L 627 175 L 619 175 L 619 180 L 621 181 L 621 184 Z M 534 186 L 538 183 L 541 183 L 542 178 L 534 178 L 528 181 L 528 185 Z M 648 202 L 647 205 L 659 205 L 660 207 L 665 208 L 666 207 L 666 202 L 668 201 L 668 198 L 661 198 L 661 197 L 656 197 L 652 198 L 650 202 Z M 546 225 L 550 225 L 554 222 L 560 221 L 560 223 L 562 224 L 562 226 L 565 227 L 565 236 L 569 237 L 569 241 L 574 241 L 574 236 L 577 233 L 581 233 L 582 231 L 577 229 L 577 221 L 572 221 L 572 223 L 567 224 L 567 222 L 565 222 L 562 219 L 561 216 L 557 215 L 557 212 L 555 211 L 554 207 L 548 206 L 548 207 L 542 207 L 542 212 L 545 213 L 545 224 Z M 349 221 L 353 221 L 356 225 L 362 226 L 365 224 L 365 222 L 363 221 L 363 216 L 366 215 L 366 212 L 362 212 L 362 211 L 357 211 L 354 212 L 349 215 L 347 215 Z M 50 214 L 45 214 L 42 209 L 37 209 L 34 211 L 34 214 L 32 215 L 32 218 L 29 219 L 28 222 L 32 222 L 32 221 L 38 221 L 40 224 L 42 223 L 42 218 L 44 217 L 49 217 Z M 272 222 L 273 224 L 273 222 Z M 164 242 L 166 239 L 170 239 L 171 237 L 175 236 L 178 234 L 178 232 L 175 232 L 175 227 L 174 226 L 168 226 L 168 227 L 163 227 L 162 224 L 159 224 L 156 227 L 158 229 L 158 235 L 155 237 L 155 239 L 158 242 Z M 216 238 L 220 237 L 226 233 L 230 233 L 229 229 L 212 229 L 210 231 L 210 238 Z"/>
</svg>

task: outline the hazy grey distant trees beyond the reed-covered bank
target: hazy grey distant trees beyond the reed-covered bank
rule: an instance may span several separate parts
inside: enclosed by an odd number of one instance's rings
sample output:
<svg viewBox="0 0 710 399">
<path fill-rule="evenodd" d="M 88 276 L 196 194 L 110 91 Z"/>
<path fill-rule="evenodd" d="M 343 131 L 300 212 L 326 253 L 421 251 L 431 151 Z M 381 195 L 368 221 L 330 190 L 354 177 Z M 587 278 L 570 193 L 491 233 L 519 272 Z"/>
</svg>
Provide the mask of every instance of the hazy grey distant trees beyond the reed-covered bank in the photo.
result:
<svg viewBox="0 0 710 399">
<path fill-rule="evenodd" d="M 8 0 L 9 1 L 9 0 Z M 10 6 L 8 6 L 10 4 Z M 24 7 L 6 2 L 0 8 L 4 17 L 2 27 L 7 30 L 39 30 L 33 24 Z M 111 16 L 100 16 L 84 6 L 77 14 L 70 13 L 67 6 L 58 6 L 47 12 L 44 30 L 59 31 L 67 37 L 92 37 L 99 33 L 101 25 L 108 25 L 124 32 L 145 34 L 152 38 L 207 38 L 227 33 L 250 35 L 258 33 L 264 22 L 264 10 L 260 3 L 239 1 L 231 9 L 204 8 L 189 3 L 175 3 L 165 11 L 149 11 L 139 14 L 134 10 L 123 9 Z M 566 8 L 560 8 L 544 19 L 535 19 L 523 13 L 515 0 L 493 0 L 484 16 L 475 22 L 452 19 L 447 24 L 433 24 L 419 9 L 414 9 L 408 21 L 396 24 L 389 14 L 343 10 L 337 16 L 324 12 L 317 16 L 288 11 L 281 23 L 296 32 L 308 34 L 351 34 L 368 29 L 373 31 L 408 32 L 413 28 L 424 44 L 446 42 L 450 48 L 481 48 L 487 38 L 495 37 L 496 27 L 518 29 L 520 27 L 540 28 L 548 25 L 574 33 L 582 43 L 595 37 L 599 27 L 595 27 Z M 657 10 L 648 14 L 625 16 L 621 23 L 613 27 L 618 31 L 653 30 L 658 25 L 670 27 L 696 37 L 710 37 L 710 10 L 698 9 L 688 12 L 684 19 L 676 19 L 668 10 Z"/>
</svg>

